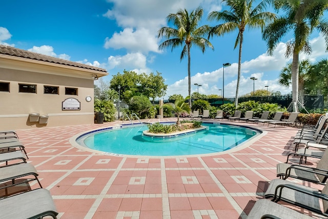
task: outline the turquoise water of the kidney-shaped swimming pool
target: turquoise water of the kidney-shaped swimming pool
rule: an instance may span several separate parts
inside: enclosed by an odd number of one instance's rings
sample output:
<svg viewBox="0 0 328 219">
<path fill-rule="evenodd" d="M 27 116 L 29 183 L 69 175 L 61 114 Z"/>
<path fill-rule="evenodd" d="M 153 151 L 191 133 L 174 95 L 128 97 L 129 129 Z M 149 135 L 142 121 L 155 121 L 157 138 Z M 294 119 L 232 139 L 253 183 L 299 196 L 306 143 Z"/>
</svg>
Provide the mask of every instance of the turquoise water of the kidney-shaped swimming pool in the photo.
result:
<svg viewBox="0 0 328 219">
<path fill-rule="evenodd" d="M 76 138 L 84 147 L 111 154 L 173 156 L 216 153 L 237 147 L 260 132 L 258 130 L 203 123 L 207 129 L 171 138 L 152 138 L 142 135 L 147 126 L 112 127 L 90 132 Z"/>
</svg>

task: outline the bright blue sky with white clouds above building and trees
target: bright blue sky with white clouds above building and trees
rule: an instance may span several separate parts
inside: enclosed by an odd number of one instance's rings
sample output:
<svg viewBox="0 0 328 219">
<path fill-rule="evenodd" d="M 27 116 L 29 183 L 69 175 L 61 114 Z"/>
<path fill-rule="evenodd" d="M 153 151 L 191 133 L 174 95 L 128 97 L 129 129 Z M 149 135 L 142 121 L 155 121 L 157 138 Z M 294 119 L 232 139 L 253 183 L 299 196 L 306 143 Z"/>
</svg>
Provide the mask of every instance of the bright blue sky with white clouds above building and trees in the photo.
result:
<svg viewBox="0 0 328 219">
<path fill-rule="evenodd" d="M 182 48 L 158 51 L 163 39 L 157 31 L 168 26 L 167 15 L 178 9 L 188 11 L 201 6 L 204 10 L 201 25 L 216 25 L 206 20 L 211 11 L 228 9 L 217 0 L 57 0 L 2 2 L 0 13 L 0 44 L 30 50 L 73 62 L 85 63 L 107 69 L 103 77 L 110 82 L 112 75 L 123 70 L 138 73 L 161 72 L 168 85 L 165 99 L 172 94 L 188 95 L 187 58 L 180 62 Z M 269 10 L 269 9 L 268 9 Z M 272 11 L 273 12 L 273 11 Z M 238 48 L 234 50 L 237 32 L 213 37 L 212 49 L 202 54 L 199 48 L 191 49 L 192 92 L 194 83 L 201 84 L 199 93 L 218 94 L 222 89 L 222 64 L 224 68 L 224 96 L 233 97 L 236 92 Z M 242 74 L 239 95 L 256 89 L 289 93 L 291 88 L 280 87 L 277 78 L 280 70 L 291 62 L 284 57 L 286 36 L 272 56 L 267 54 L 266 43 L 260 30 L 247 29 L 242 47 Z M 312 54 L 300 55 L 312 62 L 326 58 L 324 39 L 318 33 L 310 38 Z M 98 81 L 96 81 L 98 83 Z"/>
</svg>

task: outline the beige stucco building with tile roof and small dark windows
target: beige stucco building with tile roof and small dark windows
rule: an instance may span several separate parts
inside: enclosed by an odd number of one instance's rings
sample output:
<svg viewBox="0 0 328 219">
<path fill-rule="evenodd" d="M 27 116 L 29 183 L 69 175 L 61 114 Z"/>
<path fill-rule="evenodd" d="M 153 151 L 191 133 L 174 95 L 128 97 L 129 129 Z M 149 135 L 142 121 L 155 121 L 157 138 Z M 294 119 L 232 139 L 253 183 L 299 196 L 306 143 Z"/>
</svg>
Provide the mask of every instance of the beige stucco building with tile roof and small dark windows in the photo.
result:
<svg viewBox="0 0 328 219">
<path fill-rule="evenodd" d="M 0 45 L 0 130 L 94 123 L 105 69 Z"/>
</svg>

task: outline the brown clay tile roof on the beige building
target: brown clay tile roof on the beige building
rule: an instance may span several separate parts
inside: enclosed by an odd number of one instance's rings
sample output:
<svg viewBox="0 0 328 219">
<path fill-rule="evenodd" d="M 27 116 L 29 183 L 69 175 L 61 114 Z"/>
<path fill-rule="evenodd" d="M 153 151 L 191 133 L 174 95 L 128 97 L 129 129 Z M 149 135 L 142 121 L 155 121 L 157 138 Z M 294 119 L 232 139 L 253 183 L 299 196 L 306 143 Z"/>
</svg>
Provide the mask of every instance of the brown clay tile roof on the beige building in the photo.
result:
<svg viewBox="0 0 328 219">
<path fill-rule="evenodd" d="M 86 65 L 86 64 L 71 62 L 66 59 L 61 59 L 61 58 L 56 58 L 56 57 L 52 57 L 49 55 L 43 55 L 43 54 L 39 54 L 39 53 L 35 53 L 35 52 L 30 52 L 30 51 L 23 50 L 23 49 L 17 49 L 15 47 L 11 47 L 11 46 L 0 45 L 0 54 L 29 58 L 29 59 L 34 59 L 34 60 L 43 61 L 43 62 L 55 63 L 55 64 L 59 64 L 59 65 L 73 66 L 73 67 L 78 67 L 78 68 L 85 68 L 85 69 L 90 69 L 90 70 L 95 70 L 95 71 L 107 72 L 107 70 L 103 69 L 103 68 L 97 68 L 97 67 Z"/>
</svg>

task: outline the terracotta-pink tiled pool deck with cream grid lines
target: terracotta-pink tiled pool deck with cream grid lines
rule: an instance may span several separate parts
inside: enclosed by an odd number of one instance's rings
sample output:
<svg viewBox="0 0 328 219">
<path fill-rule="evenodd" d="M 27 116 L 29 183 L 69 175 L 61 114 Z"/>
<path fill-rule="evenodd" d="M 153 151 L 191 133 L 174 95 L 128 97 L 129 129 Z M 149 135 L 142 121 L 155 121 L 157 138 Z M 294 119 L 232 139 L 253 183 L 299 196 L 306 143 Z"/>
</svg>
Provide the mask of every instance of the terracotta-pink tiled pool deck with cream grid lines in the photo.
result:
<svg viewBox="0 0 328 219">
<path fill-rule="evenodd" d="M 215 122 L 248 125 L 263 134 L 229 152 L 149 157 L 112 156 L 70 144 L 70 138 L 78 133 L 116 126 L 121 121 L 16 131 L 26 147 L 28 162 L 36 167 L 40 183 L 53 196 L 58 218 L 246 218 L 268 183 L 277 178 L 276 164 L 285 162 L 285 154 L 294 150 L 292 137 L 298 129 Z M 31 187 L 37 188 L 37 184 Z"/>
</svg>

